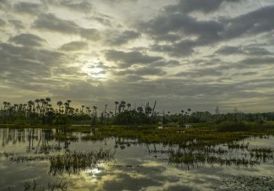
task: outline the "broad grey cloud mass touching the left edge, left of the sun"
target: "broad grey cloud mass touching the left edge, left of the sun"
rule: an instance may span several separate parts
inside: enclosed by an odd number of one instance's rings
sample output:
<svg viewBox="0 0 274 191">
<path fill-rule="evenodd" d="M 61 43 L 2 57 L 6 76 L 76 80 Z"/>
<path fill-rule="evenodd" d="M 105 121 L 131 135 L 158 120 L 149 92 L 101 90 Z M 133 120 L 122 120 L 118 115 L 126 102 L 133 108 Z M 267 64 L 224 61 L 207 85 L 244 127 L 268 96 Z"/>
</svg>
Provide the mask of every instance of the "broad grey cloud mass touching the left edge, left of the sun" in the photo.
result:
<svg viewBox="0 0 274 191">
<path fill-rule="evenodd" d="M 50 78 L 53 68 L 64 63 L 64 55 L 56 51 L 0 44 L 0 76 L 10 85 L 37 83 L 36 78 Z M 16 75 L 14 75 L 16 74 Z"/>
</svg>

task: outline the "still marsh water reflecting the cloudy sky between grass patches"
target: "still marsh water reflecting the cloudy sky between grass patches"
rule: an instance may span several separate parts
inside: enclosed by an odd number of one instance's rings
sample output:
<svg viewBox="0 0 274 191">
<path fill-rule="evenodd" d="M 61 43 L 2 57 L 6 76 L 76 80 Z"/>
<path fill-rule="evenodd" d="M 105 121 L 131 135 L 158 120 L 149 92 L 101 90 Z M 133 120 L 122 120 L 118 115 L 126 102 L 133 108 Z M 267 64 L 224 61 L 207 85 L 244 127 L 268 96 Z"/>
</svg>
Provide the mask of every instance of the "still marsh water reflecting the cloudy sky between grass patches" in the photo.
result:
<svg viewBox="0 0 274 191">
<path fill-rule="evenodd" d="M 107 138 L 103 141 L 81 141 L 82 136 L 92 132 L 73 132 L 78 141 L 56 141 L 54 135 L 60 130 L 7 129 L 0 128 L 0 153 L 16 156 L 56 156 L 73 151 L 88 152 L 107 150 L 114 152 L 114 160 L 101 162 L 76 174 L 49 173 L 48 160 L 12 162 L 0 157 L 0 190 L 23 190 L 25 181 L 36 181 L 47 186 L 54 179 L 65 179 L 68 190 L 220 190 L 222 181 L 234 176 L 273 176 L 273 162 L 261 162 L 256 166 L 220 166 L 199 164 L 198 168 L 171 165 L 167 153 L 153 152 L 177 149 L 162 144 L 138 144 L 136 140 Z M 69 134 L 69 133 L 68 133 Z M 273 147 L 274 137 L 247 138 L 240 143 L 250 147 Z M 120 144 L 118 144 L 120 143 Z M 219 145 L 219 147 L 224 147 Z M 242 156 L 234 151 L 234 156 Z M 274 182 L 274 181 L 273 181 Z"/>
</svg>

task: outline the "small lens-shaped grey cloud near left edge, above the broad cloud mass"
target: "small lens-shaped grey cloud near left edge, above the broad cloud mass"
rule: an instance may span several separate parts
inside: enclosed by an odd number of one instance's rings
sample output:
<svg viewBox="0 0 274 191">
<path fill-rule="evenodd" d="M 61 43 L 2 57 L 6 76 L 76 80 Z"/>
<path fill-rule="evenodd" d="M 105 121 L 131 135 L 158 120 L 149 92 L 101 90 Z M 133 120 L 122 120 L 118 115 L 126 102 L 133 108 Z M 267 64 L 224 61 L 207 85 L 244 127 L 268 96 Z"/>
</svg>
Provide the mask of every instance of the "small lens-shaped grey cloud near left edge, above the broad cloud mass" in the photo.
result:
<svg viewBox="0 0 274 191">
<path fill-rule="evenodd" d="M 16 35 L 9 40 L 10 42 L 14 42 L 15 44 L 21 44 L 24 46 L 42 46 L 47 41 L 38 37 L 37 35 L 31 33 L 21 33 Z"/>
</svg>

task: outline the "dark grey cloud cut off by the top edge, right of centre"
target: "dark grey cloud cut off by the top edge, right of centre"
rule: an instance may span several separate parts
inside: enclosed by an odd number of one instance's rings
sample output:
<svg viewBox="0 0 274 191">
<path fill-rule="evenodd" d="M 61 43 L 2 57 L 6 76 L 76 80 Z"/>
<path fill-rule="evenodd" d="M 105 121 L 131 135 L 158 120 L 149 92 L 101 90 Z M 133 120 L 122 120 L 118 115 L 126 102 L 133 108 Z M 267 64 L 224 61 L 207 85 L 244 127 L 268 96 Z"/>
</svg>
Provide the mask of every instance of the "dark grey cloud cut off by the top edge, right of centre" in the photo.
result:
<svg viewBox="0 0 274 191">
<path fill-rule="evenodd" d="M 166 7 L 168 12 L 214 12 L 219 10 L 222 3 L 238 3 L 242 0 L 179 0 L 177 5 L 170 5 Z"/>
</svg>

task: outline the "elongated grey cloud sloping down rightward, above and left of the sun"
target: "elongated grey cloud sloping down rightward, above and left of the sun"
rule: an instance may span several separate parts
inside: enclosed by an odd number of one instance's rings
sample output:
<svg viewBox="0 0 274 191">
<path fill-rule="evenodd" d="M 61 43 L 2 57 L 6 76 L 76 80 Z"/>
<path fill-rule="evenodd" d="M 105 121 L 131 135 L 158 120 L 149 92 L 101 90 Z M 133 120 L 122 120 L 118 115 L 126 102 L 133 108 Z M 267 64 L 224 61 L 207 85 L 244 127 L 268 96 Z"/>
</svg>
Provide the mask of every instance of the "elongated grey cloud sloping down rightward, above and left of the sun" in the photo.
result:
<svg viewBox="0 0 274 191">
<path fill-rule="evenodd" d="M 100 34 L 97 29 L 85 29 L 79 27 L 71 20 L 63 20 L 53 14 L 40 14 L 38 19 L 34 21 L 34 28 L 42 31 L 51 31 L 67 34 L 79 34 L 87 40 L 99 40 Z"/>
</svg>

